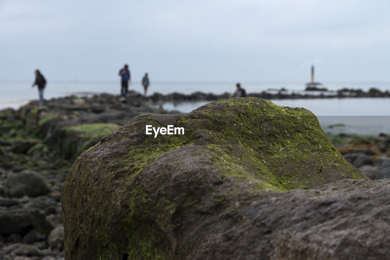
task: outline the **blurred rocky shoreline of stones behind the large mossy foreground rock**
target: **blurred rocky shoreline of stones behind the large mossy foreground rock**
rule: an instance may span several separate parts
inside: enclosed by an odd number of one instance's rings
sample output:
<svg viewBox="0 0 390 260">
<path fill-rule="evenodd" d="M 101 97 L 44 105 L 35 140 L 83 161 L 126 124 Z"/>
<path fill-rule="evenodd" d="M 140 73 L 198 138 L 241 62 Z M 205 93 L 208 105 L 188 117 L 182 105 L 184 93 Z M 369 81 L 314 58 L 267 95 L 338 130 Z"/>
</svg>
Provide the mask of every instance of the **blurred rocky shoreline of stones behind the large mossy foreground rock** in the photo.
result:
<svg viewBox="0 0 390 260">
<path fill-rule="evenodd" d="M 191 100 L 215 98 L 195 96 Z M 185 98 L 165 96 L 168 99 Z M 130 92 L 127 98 L 69 96 L 44 106 L 32 101 L 18 110 L 1 110 L 0 258 L 64 259 L 61 190 L 74 159 L 138 115 L 178 114 L 148 105 L 161 100 Z M 389 143 L 389 136 L 383 135 L 337 145 L 337 150 L 366 176 L 383 179 L 390 177 Z"/>
</svg>

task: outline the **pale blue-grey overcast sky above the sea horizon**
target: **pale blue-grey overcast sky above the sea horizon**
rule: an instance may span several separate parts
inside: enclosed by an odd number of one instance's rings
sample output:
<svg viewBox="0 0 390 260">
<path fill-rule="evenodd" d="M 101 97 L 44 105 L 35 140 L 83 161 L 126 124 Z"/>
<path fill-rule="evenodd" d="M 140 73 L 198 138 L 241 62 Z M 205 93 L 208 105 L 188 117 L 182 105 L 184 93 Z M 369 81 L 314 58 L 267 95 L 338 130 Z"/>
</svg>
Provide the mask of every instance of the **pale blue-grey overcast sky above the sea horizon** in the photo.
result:
<svg viewBox="0 0 390 260">
<path fill-rule="evenodd" d="M 390 81 L 388 0 L 0 0 L 0 80 Z"/>
</svg>

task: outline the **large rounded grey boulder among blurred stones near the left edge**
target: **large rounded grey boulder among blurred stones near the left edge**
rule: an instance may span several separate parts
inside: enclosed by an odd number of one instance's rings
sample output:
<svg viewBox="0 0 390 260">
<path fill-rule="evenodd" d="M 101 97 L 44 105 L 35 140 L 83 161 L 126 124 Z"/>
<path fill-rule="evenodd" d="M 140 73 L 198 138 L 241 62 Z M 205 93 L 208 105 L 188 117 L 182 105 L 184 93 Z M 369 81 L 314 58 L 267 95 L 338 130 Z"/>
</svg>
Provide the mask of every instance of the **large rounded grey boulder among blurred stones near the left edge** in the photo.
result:
<svg viewBox="0 0 390 260">
<path fill-rule="evenodd" d="M 44 178 L 37 172 L 24 170 L 11 173 L 5 180 L 5 193 L 11 197 L 23 197 L 24 195 L 36 197 L 49 193 L 50 188 Z"/>
</svg>

